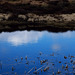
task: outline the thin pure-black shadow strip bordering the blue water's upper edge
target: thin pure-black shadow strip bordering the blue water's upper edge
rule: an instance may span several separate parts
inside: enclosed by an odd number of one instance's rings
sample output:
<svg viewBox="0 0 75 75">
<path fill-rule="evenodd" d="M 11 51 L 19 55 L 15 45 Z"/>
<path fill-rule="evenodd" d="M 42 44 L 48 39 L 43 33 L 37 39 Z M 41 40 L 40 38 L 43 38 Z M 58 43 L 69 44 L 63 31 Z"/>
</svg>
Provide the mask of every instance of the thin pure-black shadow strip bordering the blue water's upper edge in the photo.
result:
<svg viewBox="0 0 75 75">
<path fill-rule="evenodd" d="M 56 28 L 56 27 L 25 27 L 25 28 L 19 28 L 19 27 L 13 27 L 10 28 L 10 29 L 2 29 L 0 30 L 0 33 L 1 32 L 14 32 L 14 31 L 24 31 L 24 30 L 27 30 L 27 31 L 31 31 L 31 30 L 34 30 L 34 31 L 48 31 L 48 32 L 54 32 L 54 33 L 58 33 L 58 32 L 67 32 L 67 31 L 74 31 L 73 28 Z"/>
</svg>

